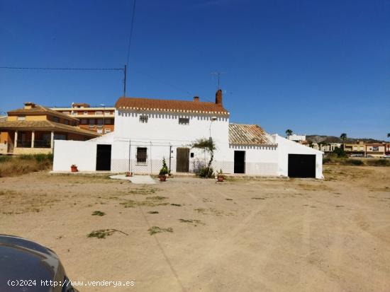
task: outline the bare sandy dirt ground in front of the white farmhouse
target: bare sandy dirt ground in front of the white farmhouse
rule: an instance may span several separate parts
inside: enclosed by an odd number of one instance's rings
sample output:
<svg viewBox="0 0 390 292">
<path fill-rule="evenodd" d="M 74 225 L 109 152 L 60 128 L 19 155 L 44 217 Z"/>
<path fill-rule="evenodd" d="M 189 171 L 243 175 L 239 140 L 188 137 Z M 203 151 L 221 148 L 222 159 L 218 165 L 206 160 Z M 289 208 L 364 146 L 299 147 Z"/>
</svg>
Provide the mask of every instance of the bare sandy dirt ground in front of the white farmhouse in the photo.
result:
<svg viewBox="0 0 390 292">
<path fill-rule="evenodd" d="M 0 178 L 0 233 L 55 250 L 72 281 L 135 281 L 80 291 L 390 291 L 390 168 L 324 175 Z"/>
</svg>

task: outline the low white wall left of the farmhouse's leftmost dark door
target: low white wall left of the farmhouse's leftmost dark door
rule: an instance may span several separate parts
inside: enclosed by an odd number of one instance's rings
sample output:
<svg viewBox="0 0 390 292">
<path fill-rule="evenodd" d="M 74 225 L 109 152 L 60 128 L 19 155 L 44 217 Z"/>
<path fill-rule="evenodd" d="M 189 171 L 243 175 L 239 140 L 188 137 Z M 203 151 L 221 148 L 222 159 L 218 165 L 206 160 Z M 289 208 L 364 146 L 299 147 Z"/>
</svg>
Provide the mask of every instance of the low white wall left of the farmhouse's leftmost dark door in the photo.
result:
<svg viewBox="0 0 390 292">
<path fill-rule="evenodd" d="M 75 164 L 79 171 L 96 170 L 96 143 L 89 141 L 55 140 L 53 170 L 70 171 Z"/>
</svg>

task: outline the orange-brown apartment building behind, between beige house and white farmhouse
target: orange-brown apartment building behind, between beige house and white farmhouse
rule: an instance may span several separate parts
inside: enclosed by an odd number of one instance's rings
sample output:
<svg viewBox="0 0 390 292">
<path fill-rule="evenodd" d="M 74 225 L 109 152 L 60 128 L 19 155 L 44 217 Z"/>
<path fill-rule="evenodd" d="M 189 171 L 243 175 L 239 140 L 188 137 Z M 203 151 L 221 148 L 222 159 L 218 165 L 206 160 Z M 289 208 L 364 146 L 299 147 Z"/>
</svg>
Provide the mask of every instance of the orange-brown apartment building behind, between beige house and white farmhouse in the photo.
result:
<svg viewBox="0 0 390 292">
<path fill-rule="evenodd" d="M 72 103 L 71 107 L 52 107 L 51 110 L 79 119 L 80 128 L 98 134 L 107 134 L 114 129 L 115 107 L 91 107 L 88 103 Z"/>
</svg>

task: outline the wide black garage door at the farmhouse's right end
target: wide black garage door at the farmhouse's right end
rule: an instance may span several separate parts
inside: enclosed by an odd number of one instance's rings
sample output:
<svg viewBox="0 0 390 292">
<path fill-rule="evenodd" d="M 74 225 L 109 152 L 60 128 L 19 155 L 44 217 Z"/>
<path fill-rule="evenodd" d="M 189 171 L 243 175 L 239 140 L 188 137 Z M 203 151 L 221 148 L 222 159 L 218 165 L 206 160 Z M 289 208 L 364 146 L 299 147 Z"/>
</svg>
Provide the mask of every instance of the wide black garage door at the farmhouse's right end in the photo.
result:
<svg viewBox="0 0 390 292">
<path fill-rule="evenodd" d="M 316 177 L 316 156 L 289 154 L 289 177 Z"/>
</svg>

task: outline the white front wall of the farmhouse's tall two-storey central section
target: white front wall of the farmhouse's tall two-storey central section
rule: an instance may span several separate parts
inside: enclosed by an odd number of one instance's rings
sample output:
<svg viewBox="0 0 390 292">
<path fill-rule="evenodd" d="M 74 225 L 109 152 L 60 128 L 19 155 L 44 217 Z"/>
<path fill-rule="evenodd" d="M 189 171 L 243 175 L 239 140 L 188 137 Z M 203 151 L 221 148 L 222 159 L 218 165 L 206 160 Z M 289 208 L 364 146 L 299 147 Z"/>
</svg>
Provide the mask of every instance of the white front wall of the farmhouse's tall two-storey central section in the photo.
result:
<svg viewBox="0 0 390 292">
<path fill-rule="evenodd" d="M 158 173 L 162 157 L 164 156 L 168 163 L 170 154 L 171 170 L 174 173 L 176 149 L 190 148 L 195 140 L 208 139 L 210 135 L 218 148 L 215 159 L 220 161 L 231 159 L 228 151 L 229 118 L 227 115 L 143 112 L 142 115 L 148 116 L 147 123 L 140 122 L 140 115 L 140 112 L 134 110 L 116 110 L 111 160 L 113 171 L 128 171 L 129 168 L 133 168 L 134 172 Z M 189 124 L 179 124 L 179 117 L 188 117 Z M 216 117 L 216 120 L 212 121 L 212 117 Z M 135 163 L 138 146 L 147 147 L 146 165 Z M 169 149 L 173 152 L 169 153 Z M 191 152 L 195 156 L 190 158 L 190 170 L 193 169 L 196 161 L 205 158 L 201 151 L 191 149 Z"/>
</svg>

